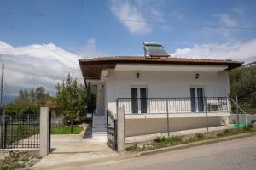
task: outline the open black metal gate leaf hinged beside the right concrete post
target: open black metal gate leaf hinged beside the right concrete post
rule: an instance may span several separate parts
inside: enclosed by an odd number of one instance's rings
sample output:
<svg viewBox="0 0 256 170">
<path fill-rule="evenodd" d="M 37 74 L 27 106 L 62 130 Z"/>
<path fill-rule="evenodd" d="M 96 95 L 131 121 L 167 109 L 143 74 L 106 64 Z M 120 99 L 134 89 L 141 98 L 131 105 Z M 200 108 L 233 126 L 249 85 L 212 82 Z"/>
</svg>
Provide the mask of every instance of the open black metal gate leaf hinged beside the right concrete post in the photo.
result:
<svg viewBox="0 0 256 170">
<path fill-rule="evenodd" d="M 107 110 L 107 135 L 108 146 L 117 150 L 117 124 L 113 114 Z"/>
</svg>

